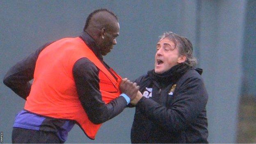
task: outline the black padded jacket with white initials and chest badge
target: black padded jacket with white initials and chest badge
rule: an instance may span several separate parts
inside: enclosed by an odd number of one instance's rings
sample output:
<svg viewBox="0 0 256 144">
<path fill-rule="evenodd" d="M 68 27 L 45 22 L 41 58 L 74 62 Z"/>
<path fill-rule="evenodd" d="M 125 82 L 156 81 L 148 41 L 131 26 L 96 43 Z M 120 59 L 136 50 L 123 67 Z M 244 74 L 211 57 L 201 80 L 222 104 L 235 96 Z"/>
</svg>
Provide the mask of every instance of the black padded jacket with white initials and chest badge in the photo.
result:
<svg viewBox="0 0 256 144">
<path fill-rule="evenodd" d="M 178 64 L 135 82 L 144 97 L 136 105 L 132 143 L 208 143 L 208 94 L 195 69 Z"/>
</svg>

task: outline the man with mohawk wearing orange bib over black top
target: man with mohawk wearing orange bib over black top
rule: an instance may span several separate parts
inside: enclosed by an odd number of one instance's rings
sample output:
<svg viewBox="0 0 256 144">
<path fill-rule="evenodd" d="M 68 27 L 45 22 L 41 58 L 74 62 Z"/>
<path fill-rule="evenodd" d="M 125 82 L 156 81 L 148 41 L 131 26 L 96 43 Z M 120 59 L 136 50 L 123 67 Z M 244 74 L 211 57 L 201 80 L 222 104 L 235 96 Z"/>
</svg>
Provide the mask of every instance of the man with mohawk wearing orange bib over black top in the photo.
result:
<svg viewBox="0 0 256 144">
<path fill-rule="evenodd" d="M 123 111 L 139 86 L 103 61 L 118 35 L 117 16 L 98 9 L 80 37 L 46 43 L 7 72 L 5 85 L 26 100 L 13 143 L 64 143 L 75 123 L 95 139 L 101 123 Z"/>
</svg>

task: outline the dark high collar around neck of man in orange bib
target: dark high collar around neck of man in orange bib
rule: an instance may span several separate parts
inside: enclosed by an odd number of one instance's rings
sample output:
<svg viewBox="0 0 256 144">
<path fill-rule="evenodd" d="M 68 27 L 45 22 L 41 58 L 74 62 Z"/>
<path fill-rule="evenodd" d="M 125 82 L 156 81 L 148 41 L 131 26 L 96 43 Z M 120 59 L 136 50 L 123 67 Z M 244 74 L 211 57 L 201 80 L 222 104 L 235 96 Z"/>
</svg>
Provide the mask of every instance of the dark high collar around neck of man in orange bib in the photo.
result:
<svg viewBox="0 0 256 144">
<path fill-rule="evenodd" d="M 99 50 L 98 46 L 96 45 L 94 39 L 92 39 L 92 37 L 87 32 L 82 32 L 79 37 L 83 41 L 85 41 L 87 46 L 89 46 L 89 48 L 94 52 L 96 57 L 98 57 L 98 59 L 103 61 L 103 56 L 101 55 L 100 50 Z"/>
</svg>

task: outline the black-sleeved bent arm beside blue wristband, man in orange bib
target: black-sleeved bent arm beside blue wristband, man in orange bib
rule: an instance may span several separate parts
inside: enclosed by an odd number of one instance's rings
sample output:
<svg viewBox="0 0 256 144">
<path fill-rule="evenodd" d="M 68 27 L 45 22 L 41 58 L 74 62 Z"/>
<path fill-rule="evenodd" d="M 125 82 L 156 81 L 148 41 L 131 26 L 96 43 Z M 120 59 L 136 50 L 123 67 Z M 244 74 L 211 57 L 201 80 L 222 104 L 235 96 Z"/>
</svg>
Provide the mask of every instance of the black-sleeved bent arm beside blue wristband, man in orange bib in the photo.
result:
<svg viewBox="0 0 256 144">
<path fill-rule="evenodd" d="M 78 97 L 90 121 L 96 124 L 117 116 L 127 105 L 122 96 L 105 104 L 99 87 L 98 73 L 97 67 L 87 58 L 79 59 L 73 66 Z"/>
</svg>

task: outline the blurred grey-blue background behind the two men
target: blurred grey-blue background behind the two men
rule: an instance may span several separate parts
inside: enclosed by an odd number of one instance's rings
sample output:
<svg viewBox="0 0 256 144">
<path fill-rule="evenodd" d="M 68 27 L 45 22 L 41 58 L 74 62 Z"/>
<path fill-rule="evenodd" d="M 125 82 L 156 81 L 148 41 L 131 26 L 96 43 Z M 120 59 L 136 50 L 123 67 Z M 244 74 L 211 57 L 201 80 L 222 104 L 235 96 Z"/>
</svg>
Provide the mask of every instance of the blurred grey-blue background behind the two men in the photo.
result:
<svg viewBox="0 0 256 144">
<path fill-rule="evenodd" d="M 210 143 L 256 143 L 256 0 L 0 0 L 0 131 L 11 143 L 24 100 L 2 83 L 8 69 L 48 41 L 77 37 L 99 8 L 119 17 L 117 45 L 104 60 L 122 77 L 153 69 L 165 31 L 191 40 L 209 94 Z M 107 121 L 96 139 L 78 126 L 66 143 L 130 143 L 134 108 Z M 143 135 L 143 134 L 142 134 Z"/>
</svg>

